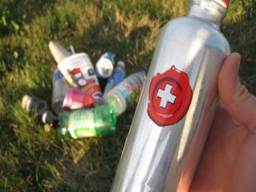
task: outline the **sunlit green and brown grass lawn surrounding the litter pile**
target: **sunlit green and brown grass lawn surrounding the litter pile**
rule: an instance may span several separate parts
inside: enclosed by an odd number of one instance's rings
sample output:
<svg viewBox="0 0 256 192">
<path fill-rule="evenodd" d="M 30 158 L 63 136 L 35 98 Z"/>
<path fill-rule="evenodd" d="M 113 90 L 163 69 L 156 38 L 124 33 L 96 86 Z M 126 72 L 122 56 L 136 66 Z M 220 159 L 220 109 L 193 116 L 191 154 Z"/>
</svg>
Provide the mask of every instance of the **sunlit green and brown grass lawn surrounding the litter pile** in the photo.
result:
<svg viewBox="0 0 256 192">
<path fill-rule="evenodd" d="M 256 9 L 233 0 L 222 31 L 241 53 L 241 80 L 256 94 Z M 73 44 L 95 63 L 112 50 L 127 73 L 148 70 L 160 29 L 186 15 L 179 0 L 1 0 L 0 191 L 109 191 L 135 107 L 111 137 L 60 141 L 20 108 L 20 96 L 50 102 L 56 67 L 50 40 Z"/>
</svg>

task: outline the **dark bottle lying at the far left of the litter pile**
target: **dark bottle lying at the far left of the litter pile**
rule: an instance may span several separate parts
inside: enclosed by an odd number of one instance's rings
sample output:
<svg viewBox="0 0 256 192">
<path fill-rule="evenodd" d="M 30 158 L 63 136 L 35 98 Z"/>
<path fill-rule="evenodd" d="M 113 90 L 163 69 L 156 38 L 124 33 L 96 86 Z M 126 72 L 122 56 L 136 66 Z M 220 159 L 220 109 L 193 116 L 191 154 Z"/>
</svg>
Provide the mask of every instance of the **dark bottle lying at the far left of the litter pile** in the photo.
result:
<svg viewBox="0 0 256 192">
<path fill-rule="evenodd" d="M 49 124 L 54 128 L 58 126 L 58 119 L 49 111 L 47 103 L 44 100 L 36 96 L 25 95 L 21 99 L 21 107 L 44 124 Z"/>
</svg>

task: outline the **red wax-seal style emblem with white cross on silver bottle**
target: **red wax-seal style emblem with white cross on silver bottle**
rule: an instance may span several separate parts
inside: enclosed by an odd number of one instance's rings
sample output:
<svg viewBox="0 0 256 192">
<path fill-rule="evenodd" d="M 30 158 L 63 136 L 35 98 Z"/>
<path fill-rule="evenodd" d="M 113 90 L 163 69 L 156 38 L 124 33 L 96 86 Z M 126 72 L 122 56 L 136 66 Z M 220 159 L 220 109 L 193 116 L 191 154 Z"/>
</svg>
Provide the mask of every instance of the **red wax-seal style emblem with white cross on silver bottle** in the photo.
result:
<svg viewBox="0 0 256 192">
<path fill-rule="evenodd" d="M 187 113 L 191 99 L 188 75 L 172 66 L 151 80 L 148 116 L 159 126 L 176 124 Z"/>
</svg>

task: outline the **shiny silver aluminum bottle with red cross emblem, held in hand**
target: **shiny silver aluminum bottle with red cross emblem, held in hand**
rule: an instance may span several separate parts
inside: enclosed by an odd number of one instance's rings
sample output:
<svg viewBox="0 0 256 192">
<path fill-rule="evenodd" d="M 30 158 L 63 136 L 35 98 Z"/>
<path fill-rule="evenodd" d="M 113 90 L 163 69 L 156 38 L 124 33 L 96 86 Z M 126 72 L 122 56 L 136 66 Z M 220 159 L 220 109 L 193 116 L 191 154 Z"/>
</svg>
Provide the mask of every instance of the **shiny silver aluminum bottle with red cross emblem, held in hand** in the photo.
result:
<svg viewBox="0 0 256 192">
<path fill-rule="evenodd" d="M 228 0 L 192 0 L 161 32 L 111 192 L 189 191 L 230 46 L 219 32 Z"/>
</svg>

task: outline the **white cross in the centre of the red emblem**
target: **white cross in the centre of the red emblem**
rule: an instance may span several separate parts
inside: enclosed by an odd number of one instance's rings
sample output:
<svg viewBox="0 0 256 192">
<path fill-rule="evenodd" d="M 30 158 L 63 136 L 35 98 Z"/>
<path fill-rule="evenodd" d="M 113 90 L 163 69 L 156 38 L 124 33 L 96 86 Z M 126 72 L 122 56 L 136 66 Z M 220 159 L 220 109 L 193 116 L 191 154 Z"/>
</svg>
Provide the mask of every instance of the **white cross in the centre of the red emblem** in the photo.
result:
<svg viewBox="0 0 256 192">
<path fill-rule="evenodd" d="M 172 104 L 174 104 L 176 97 L 172 95 L 171 93 L 172 90 L 172 85 L 170 84 L 166 84 L 166 88 L 165 90 L 158 90 L 157 96 L 160 97 L 161 102 L 160 102 L 160 107 L 161 108 L 166 108 L 166 105 L 168 102 L 171 102 Z"/>
</svg>

